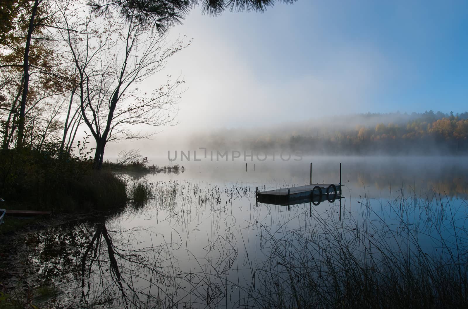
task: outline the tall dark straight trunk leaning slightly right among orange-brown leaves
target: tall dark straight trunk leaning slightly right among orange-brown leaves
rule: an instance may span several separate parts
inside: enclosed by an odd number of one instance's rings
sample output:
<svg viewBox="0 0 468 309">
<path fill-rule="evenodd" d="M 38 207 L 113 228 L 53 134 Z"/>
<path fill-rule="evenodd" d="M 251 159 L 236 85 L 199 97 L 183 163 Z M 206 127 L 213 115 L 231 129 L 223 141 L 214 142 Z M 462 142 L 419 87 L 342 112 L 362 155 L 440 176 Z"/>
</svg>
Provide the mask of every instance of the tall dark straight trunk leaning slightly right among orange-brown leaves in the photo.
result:
<svg viewBox="0 0 468 309">
<path fill-rule="evenodd" d="M 16 147 L 21 148 L 23 144 L 24 137 L 24 121 L 25 121 L 25 111 L 26 111 L 26 98 L 28 97 L 28 87 L 29 87 L 29 46 L 31 45 L 32 32 L 34 30 L 34 18 L 36 17 L 37 7 L 39 6 L 39 0 L 34 1 L 34 5 L 31 11 L 31 19 L 29 20 L 28 36 L 26 37 L 26 46 L 24 48 L 24 85 L 23 93 L 21 97 L 21 106 L 20 106 L 20 122 L 18 126 L 18 143 Z"/>
</svg>

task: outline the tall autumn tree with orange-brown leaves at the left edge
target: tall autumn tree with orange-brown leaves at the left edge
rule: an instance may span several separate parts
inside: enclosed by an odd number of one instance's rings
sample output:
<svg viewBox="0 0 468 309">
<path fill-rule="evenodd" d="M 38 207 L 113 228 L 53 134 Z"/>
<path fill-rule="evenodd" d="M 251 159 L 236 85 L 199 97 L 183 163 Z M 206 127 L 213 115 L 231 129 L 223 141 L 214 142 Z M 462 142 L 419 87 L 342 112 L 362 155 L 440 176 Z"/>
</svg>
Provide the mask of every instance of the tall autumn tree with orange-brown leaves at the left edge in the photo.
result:
<svg viewBox="0 0 468 309">
<path fill-rule="evenodd" d="M 47 1 L 15 1 L 0 45 L 2 148 L 29 148 L 55 128 L 60 96 L 69 78 L 50 29 L 54 8 Z M 4 11 L 4 10 L 3 10 Z M 8 20 L 7 17 L 4 20 Z M 49 121 L 49 122 L 48 122 Z M 42 144 L 42 142 L 38 142 Z"/>
</svg>

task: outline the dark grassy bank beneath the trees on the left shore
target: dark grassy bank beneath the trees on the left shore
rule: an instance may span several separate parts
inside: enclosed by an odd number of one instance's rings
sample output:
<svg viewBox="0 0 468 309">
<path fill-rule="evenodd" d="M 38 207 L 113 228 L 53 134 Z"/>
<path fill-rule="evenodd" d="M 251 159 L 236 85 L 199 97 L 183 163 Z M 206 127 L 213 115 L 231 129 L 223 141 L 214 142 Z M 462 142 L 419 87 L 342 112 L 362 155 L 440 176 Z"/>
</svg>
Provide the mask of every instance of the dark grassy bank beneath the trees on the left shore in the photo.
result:
<svg viewBox="0 0 468 309">
<path fill-rule="evenodd" d="M 124 209 L 128 199 L 126 181 L 89 159 L 28 149 L 0 151 L 0 197 L 0 208 L 54 213 Z M 34 222 L 7 213 L 0 233 Z"/>
</svg>

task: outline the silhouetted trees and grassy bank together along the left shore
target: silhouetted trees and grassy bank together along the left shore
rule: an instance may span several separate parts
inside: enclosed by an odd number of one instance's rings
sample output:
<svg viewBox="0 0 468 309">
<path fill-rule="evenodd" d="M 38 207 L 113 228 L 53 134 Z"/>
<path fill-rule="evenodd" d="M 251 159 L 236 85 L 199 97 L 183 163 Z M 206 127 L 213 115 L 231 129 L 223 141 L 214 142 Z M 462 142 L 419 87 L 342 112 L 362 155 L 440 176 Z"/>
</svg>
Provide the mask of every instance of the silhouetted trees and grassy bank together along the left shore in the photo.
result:
<svg viewBox="0 0 468 309">
<path fill-rule="evenodd" d="M 0 36 L 2 207 L 125 207 L 124 179 L 92 169 L 101 168 L 108 142 L 151 136 L 131 126 L 168 125 L 174 117 L 171 106 L 183 81 L 168 75 L 151 93 L 137 85 L 190 43 L 166 44 L 141 21 L 124 22 L 114 14 L 91 17 L 82 14 L 80 4 L 86 2 L 8 1 L 0 8 L 5 30 Z M 90 134 L 76 142 L 83 125 Z M 126 159 L 117 165 L 150 171 L 146 158 L 132 158 L 130 152 Z"/>
</svg>

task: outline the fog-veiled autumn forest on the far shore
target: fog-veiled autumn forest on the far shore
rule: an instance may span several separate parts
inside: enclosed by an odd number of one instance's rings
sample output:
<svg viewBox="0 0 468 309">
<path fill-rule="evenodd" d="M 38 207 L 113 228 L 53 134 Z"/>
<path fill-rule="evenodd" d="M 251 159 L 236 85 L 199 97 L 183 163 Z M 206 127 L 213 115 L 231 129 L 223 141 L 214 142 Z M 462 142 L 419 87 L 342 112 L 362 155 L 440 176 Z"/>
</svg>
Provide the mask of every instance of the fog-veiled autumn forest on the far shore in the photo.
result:
<svg viewBox="0 0 468 309">
<path fill-rule="evenodd" d="M 230 129 L 204 136 L 212 149 L 291 150 L 314 155 L 465 155 L 468 112 L 362 113 L 328 123 L 307 121 L 254 132 Z M 236 138 L 236 136 L 238 136 Z"/>
</svg>

